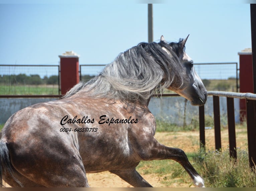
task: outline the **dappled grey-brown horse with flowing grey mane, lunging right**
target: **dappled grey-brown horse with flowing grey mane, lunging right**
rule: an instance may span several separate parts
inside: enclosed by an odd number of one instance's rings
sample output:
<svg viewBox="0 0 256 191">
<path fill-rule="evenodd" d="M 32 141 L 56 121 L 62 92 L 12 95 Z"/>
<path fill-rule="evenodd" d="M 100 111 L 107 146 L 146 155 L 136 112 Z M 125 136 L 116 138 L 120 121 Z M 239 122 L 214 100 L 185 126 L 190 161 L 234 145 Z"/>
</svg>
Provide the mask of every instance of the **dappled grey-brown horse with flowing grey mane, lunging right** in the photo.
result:
<svg viewBox="0 0 256 191">
<path fill-rule="evenodd" d="M 205 104 L 206 88 L 185 52 L 187 37 L 141 42 L 61 99 L 14 113 L 1 132 L 1 186 L 4 180 L 12 187 L 90 187 L 87 173 L 109 171 L 133 187 L 152 187 L 136 166 L 172 159 L 204 187 L 183 150 L 154 138 L 156 121 L 148 109 L 159 84 L 192 105 Z"/>
</svg>

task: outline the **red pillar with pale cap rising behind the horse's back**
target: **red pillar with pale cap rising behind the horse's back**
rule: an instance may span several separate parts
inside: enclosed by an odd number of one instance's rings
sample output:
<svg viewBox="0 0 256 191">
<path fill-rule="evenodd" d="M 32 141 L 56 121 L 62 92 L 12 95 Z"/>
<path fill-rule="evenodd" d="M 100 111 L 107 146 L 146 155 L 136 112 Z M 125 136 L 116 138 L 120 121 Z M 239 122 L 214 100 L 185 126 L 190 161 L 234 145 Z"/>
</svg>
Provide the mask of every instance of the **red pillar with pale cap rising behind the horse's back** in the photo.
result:
<svg viewBox="0 0 256 191">
<path fill-rule="evenodd" d="M 79 83 L 79 55 L 71 52 L 59 55 L 60 58 L 60 90 L 65 95 Z"/>
</svg>

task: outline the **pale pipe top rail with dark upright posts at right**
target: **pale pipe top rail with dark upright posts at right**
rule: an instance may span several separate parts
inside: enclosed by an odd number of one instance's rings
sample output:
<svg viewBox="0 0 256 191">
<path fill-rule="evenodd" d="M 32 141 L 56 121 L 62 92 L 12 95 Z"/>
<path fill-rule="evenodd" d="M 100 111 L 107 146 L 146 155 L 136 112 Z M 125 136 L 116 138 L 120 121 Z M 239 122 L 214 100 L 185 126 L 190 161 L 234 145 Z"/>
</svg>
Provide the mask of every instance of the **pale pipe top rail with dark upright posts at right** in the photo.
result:
<svg viewBox="0 0 256 191">
<path fill-rule="evenodd" d="M 215 149 L 221 150 L 221 133 L 220 133 L 220 102 L 219 97 L 227 97 L 228 113 L 228 133 L 229 133 L 229 151 L 230 157 L 237 158 L 236 152 L 236 130 L 235 130 L 235 112 L 234 98 L 246 99 L 246 116 L 247 116 L 247 137 L 248 137 L 248 155 L 251 168 L 256 168 L 256 94 L 236 93 L 236 92 L 218 92 L 211 91 L 208 95 L 213 95 L 214 110 L 214 132 L 215 132 Z M 204 105 L 199 107 L 199 126 L 200 142 L 205 147 L 205 120 Z"/>
</svg>

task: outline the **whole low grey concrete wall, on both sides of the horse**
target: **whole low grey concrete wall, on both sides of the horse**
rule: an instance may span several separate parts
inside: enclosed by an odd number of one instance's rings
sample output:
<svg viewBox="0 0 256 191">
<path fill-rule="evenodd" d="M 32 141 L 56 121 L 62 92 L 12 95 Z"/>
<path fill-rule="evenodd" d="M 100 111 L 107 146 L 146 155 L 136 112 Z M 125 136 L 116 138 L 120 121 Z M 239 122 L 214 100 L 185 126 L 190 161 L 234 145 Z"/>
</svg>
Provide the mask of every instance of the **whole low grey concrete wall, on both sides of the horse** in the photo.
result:
<svg viewBox="0 0 256 191">
<path fill-rule="evenodd" d="M 0 123 L 5 123 L 13 113 L 29 105 L 56 99 L 57 98 L 0 98 Z M 239 99 L 234 99 L 234 102 L 235 120 L 239 122 Z M 189 101 L 185 101 L 183 97 L 152 97 L 149 102 L 149 109 L 155 118 L 178 125 L 183 124 L 184 114 L 186 116 L 186 124 L 191 123 L 193 118 L 198 119 L 199 116 L 198 106 L 192 106 Z M 185 113 L 184 110 L 186 111 Z M 227 116 L 226 97 L 220 97 L 220 112 L 223 118 Z M 213 116 L 212 97 L 208 97 L 205 104 L 205 114 Z"/>
</svg>

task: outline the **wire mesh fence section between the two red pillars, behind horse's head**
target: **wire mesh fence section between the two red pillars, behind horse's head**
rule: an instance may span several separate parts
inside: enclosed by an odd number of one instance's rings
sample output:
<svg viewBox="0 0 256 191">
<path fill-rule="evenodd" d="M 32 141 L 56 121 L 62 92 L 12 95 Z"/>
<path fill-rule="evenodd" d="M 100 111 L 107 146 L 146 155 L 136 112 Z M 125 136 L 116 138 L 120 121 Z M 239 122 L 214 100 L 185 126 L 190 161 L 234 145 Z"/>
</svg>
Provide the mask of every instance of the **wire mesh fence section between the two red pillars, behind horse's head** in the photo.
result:
<svg viewBox="0 0 256 191">
<path fill-rule="evenodd" d="M 80 65 L 80 80 L 89 81 L 97 76 L 106 65 Z M 194 64 L 195 70 L 208 91 L 239 92 L 237 63 Z M 170 94 L 165 91 L 163 94 Z"/>
</svg>

